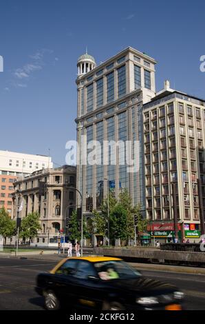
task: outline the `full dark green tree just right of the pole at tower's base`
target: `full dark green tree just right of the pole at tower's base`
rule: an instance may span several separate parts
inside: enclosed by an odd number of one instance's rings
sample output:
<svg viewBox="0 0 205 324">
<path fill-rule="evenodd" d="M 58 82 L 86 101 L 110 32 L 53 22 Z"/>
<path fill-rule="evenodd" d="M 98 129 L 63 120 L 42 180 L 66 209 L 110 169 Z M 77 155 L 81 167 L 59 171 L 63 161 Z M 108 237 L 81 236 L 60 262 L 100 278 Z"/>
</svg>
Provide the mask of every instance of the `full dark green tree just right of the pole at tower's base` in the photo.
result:
<svg viewBox="0 0 205 324">
<path fill-rule="evenodd" d="M 110 214 L 111 239 L 120 241 L 127 240 L 127 211 L 122 203 L 118 203 Z"/>
</svg>

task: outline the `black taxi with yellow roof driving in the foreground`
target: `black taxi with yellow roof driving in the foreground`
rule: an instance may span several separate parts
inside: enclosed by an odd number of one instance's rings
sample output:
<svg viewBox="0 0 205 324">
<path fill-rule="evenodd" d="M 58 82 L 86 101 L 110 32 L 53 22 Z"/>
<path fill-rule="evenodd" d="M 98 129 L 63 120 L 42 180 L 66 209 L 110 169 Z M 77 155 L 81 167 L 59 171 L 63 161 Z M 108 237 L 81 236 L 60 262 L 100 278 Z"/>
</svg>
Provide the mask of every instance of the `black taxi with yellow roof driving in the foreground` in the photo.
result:
<svg viewBox="0 0 205 324">
<path fill-rule="evenodd" d="M 183 293 L 173 285 L 142 276 L 118 258 L 63 259 L 36 278 L 47 310 L 181 310 Z"/>
</svg>

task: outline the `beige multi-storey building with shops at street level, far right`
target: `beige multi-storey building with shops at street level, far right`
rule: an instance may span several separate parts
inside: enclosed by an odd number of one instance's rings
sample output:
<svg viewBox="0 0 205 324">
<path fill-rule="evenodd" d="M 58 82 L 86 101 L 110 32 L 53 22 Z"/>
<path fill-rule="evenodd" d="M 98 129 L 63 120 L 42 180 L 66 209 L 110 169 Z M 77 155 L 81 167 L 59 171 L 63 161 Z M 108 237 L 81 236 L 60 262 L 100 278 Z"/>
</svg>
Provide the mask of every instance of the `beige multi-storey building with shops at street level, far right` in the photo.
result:
<svg viewBox="0 0 205 324">
<path fill-rule="evenodd" d="M 181 236 L 198 241 L 199 190 L 205 220 L 205 101 L 171 89 L 166 81 L 164 90 L 144 104 L 143 123 L 146 212 L 151 230 L 167 239 L 176 203 Z"/>
</svg>

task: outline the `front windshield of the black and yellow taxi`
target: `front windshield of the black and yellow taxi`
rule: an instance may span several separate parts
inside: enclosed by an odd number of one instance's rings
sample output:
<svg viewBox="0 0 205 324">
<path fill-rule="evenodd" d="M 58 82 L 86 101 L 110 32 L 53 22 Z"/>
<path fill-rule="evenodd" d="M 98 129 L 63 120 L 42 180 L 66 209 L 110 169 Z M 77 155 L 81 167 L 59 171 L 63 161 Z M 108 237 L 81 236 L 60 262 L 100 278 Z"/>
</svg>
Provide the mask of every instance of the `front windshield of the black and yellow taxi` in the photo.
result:
<svg viewBox="0 0 205 324">
<path fill-rule="evenodd" d="M 94 263 L 98 276 L 102 280 L 137 279 L 140 272 L 132 269 L 123 261 L 104 261 Z"/>
</svg>

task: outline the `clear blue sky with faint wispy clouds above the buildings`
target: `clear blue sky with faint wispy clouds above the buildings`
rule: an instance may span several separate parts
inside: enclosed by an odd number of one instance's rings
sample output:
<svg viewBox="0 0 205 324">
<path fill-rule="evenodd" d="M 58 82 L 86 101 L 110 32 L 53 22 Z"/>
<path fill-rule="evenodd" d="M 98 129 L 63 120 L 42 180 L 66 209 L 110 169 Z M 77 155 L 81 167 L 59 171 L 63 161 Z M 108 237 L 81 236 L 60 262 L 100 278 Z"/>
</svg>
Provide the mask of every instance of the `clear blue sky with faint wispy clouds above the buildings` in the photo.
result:
<svg viewBox="0 0 205 324">
<path fill-rule="evenodd" d="M 126 5 L 126 6 L 125 6 Z M 76 139 L 76 61 L 105 61 L 127 46 L 158 61 L 156 85 L 205 98 L 204 1 L 1 0 L 0 149 L 65 164 Z"/>
</svg>

